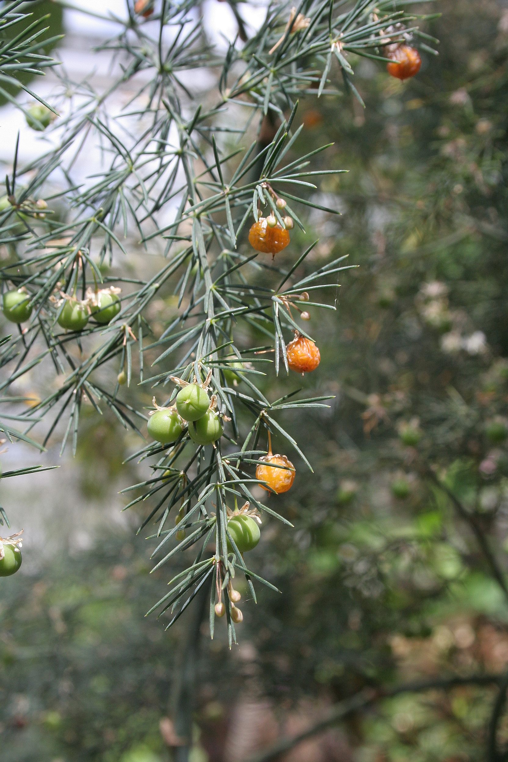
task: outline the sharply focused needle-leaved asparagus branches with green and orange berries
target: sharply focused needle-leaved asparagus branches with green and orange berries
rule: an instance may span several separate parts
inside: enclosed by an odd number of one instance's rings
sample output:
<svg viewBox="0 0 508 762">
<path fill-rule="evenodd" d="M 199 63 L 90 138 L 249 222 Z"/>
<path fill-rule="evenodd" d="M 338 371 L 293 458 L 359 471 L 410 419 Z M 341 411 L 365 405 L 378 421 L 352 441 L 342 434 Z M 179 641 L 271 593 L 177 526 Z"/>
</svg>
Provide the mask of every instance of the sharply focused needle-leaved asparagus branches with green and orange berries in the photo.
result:
<svg viewBox="0 0 508 762">
<path fill-rule="evenodd" d="M 25 441 L 37 427 L 40 447 L 60 436 L 60 452 L 69 443 L 75 453 L 88 405 L 145 440 L 129 460 L 148 462 L 149 478 L 126 490 L 127 507 L 149 505 L 140 531 L 154 527 L 154 568 L 193 554 L 151 609 L 168 613 L 168 626 L 206 589 L 211 634 L 225 614 L 231 644 L 242 620 L 235 575 L 254 600 L 254 582 L 273 588 L 244 553 L 262 538 L 263 517 L 291 527 L 274 496 L 295 479 L 292 453 L 312 466 L 286 421 L 329 398 L 299 395 L 292 376 L 294 389 L 270 399 L 264 376 L 318 368 L 318 321 L 312 335 L 305 322 L 335 309 L 338 274 L 351 266 L 309 256 L 306 210 L 337 213 L 319 203 L 315 181 L 343 170 L 317 163 L 329 146 L 302 153 L 298 101 L 346 91 L 362 103 L 359 57 L 399 76 L 400 50 L 419 55 L 412 40 L 433 52 L 424 17 L 403 5 L 273 2 L 257 8 L 252 30 L 228 0 L 238 33 L 221 48 L 194 0 L 127 2 L 125 18 L 104 16 L 117 29 L 97 47 L 112 62 L 107 87 L 55 69 L 59 118 L 31 125 L 50 149 L 20 166 L 16 146 L 0 211 L 4 316 L 16 326 L 0 348 L 1 389 L 33 369 L 59 382 L 41 384 L 29 409 L 8 397 L 19 431 L 2 426 Z M 78 161 L 91 143 L 101 169 L 83 180 Z M 133 252 L 135 277 L 125 264 Z M 156 253 L 163 264 L 146 275 Z M 177 314 L 159 309 L 165 328 L 154 333 L 150 310 L 167 293 Z M 283 453 L 272 453 L 271 434 Z"/>
</svg>

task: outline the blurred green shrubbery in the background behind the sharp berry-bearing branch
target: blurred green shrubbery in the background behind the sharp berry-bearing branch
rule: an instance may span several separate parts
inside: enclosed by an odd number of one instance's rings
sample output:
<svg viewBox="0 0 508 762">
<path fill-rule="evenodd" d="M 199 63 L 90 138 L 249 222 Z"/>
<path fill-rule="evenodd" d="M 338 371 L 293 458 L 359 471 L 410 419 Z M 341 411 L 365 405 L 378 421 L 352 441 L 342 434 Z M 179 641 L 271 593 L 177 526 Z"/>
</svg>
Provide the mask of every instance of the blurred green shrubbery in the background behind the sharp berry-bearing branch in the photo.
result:
<svg viewBox="0 0 508 762">
<path fill-rule="evenodd" d="M 203 638 L 192 762 L 241 762 L 363 687 L 506 670 L 508 10 L 439 11 L 439 56 L 414 80 L 363 59 L 366 110 L 300 106 L 305 148 L 334 142 L 323 166 L 349 169 L 316 195 L 342 216 L 313 213 L 307 237 L 323 263 L 357 266 L 337 313 L 312 315 L 322 362 L 302 386 L 336 396 L 292 419 L 315 475 L 300 469 L 276 498 L 295 530 L 267 522 L 252 553 L 282 596 L 262 588 L 244 607 L 232 655 L 220 628 Z M 265 389 L 289 386 L 270 374 Z M 81 437 L 75 479 L 91 500 L 123 486 L 130 443 L 113 428 L 91 417 Z M 2 762 L 173 758 L 186 623 L 143 618 L 165 584 L 149 568 L 142 539 L 107 528 L 2 583 Z M 474 686 L 399 696 L 285 759 L 490 759 L 494 699 Z"/>
</svg>

